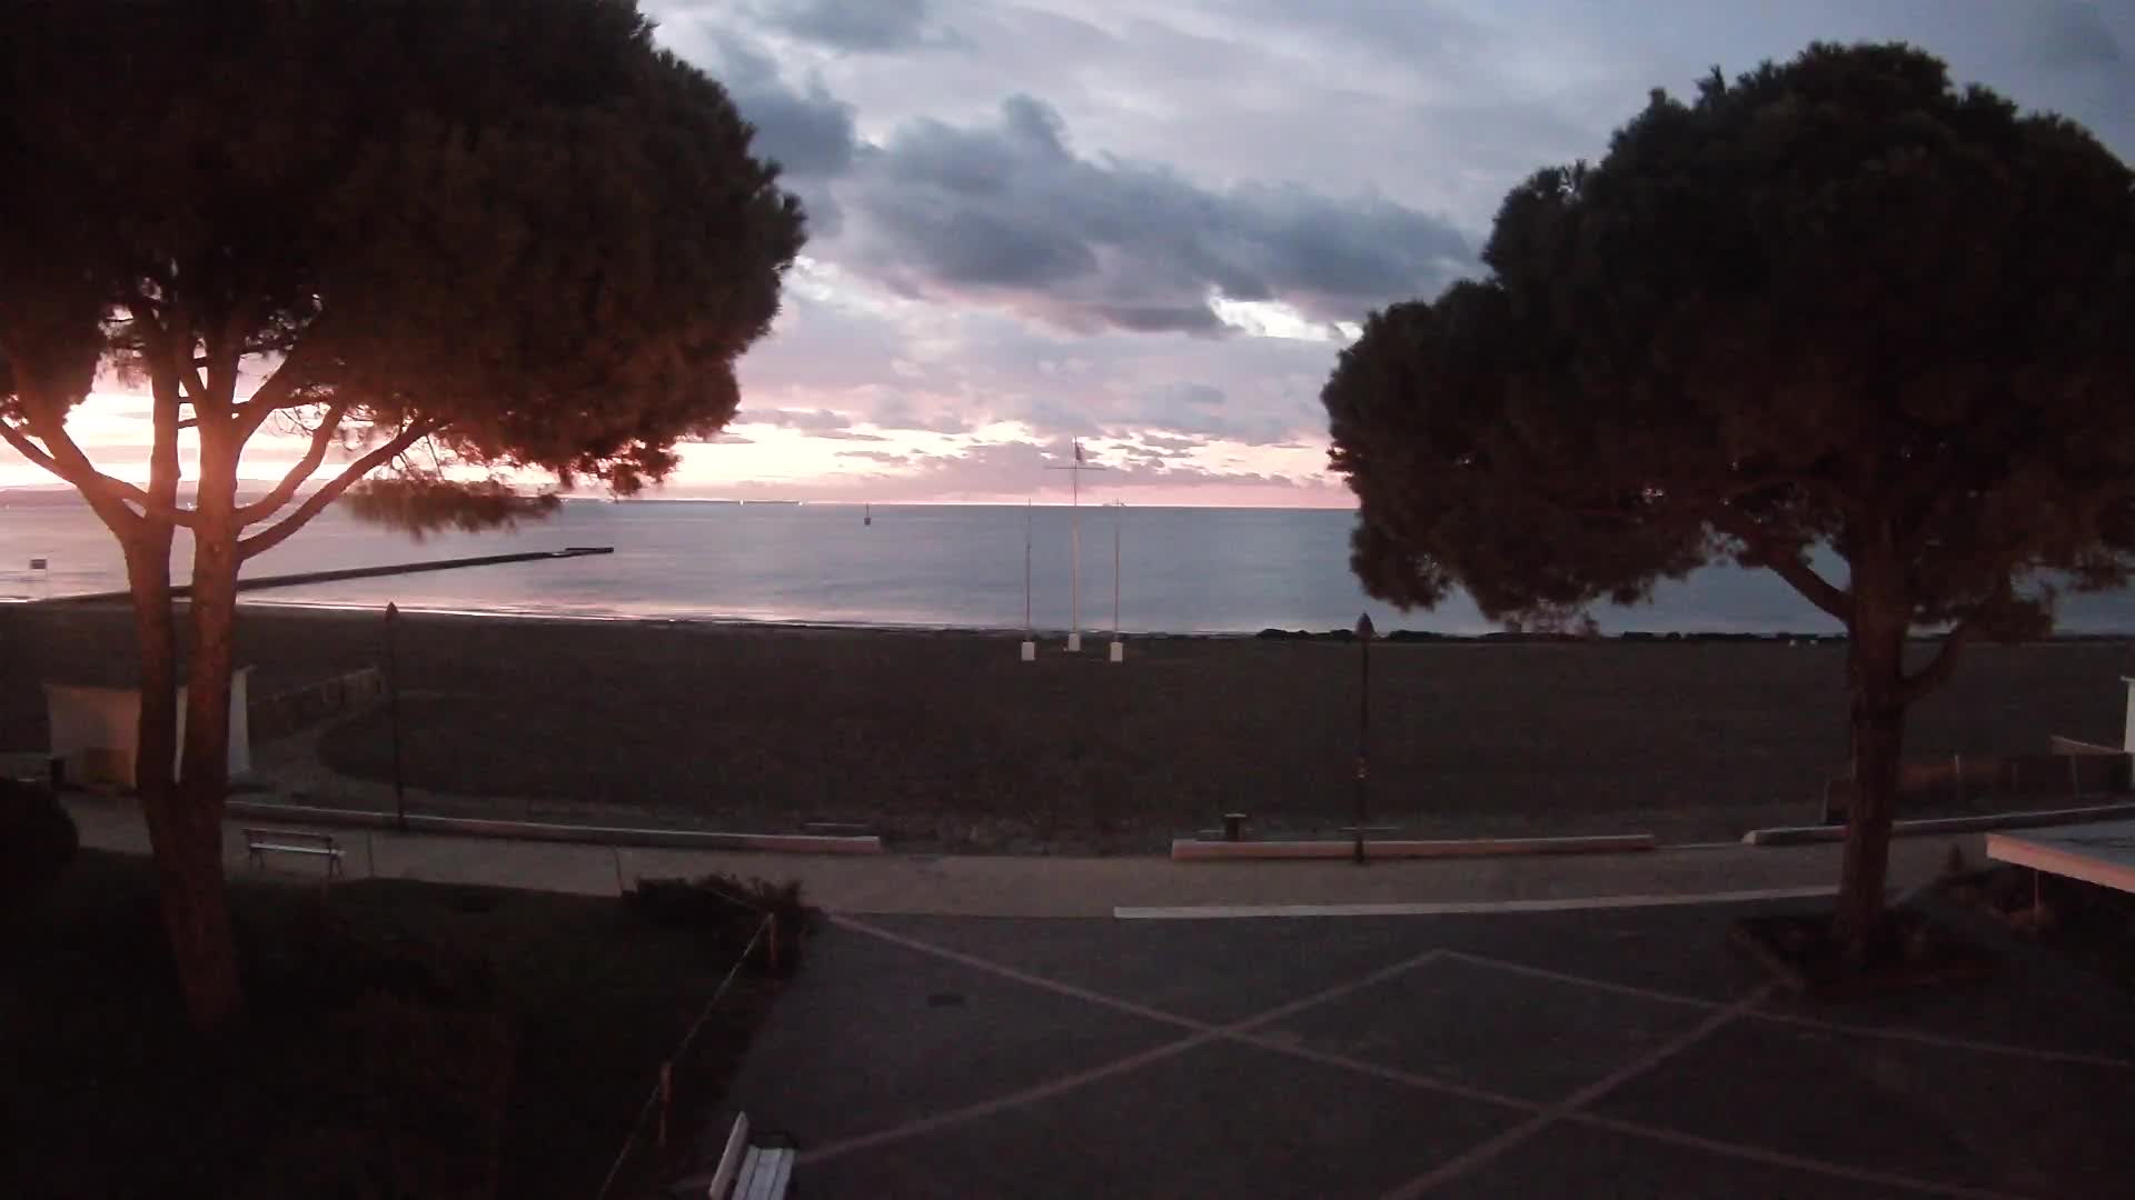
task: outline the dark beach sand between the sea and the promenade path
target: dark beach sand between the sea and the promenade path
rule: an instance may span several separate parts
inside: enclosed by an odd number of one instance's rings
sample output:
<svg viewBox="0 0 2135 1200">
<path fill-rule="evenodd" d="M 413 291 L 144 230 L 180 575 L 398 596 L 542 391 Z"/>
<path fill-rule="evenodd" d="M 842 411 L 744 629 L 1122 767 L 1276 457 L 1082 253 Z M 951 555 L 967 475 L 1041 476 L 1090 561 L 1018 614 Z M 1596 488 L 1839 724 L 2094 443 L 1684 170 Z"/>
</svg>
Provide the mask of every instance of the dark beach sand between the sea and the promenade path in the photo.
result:
<svg viewBox="0 0 2135 1200">
<path fill-rule="evenodd" d="M 378 662 L 380 632 L 376 613 L 248 606 L 239 660 L 267 696 Z M 1035 664 L 1016 641 L 408 613 L 406 777 L 463 811 L 865 822 L 910 850 L 1149 852 L 1228 809 L 1262 835 L 1351 822 L 1356 645 L 1129 641 L 1114 666 L 1102 636 L 1080 658 L 1044 638 Z M 38 681 L 130 653 L 120 609 L 0 609 L 0 749 L 43 747 Z M 1915 709 L 1907 756 L 2118 745 L 2124 662 L 2124 643 L 1975 647 Z M 1371 818 L 1670 841 L 1806 824 L 1847 749 L 1843 664 L 1832 643 L 1379 643 Z M 384 711 L 318 754 L 386 779 Z"/>
</svg>

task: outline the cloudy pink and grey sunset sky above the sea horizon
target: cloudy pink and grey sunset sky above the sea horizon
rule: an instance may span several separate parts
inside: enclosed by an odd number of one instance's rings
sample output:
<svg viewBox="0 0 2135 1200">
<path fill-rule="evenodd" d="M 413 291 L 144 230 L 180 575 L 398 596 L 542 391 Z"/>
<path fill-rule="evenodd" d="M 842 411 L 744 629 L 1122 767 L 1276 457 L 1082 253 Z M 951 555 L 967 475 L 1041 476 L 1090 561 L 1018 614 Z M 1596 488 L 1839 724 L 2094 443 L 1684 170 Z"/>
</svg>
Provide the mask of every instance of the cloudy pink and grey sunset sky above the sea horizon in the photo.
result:
<svg viewBox="0 0 2135 1200">
<path fill-rule="evenodd" d="M 1093 495 L 1347 506 L 1319 386 L 1371 310 L 1475 273 L 1505 190 L 1652 88 L 1819 38 L 1911 41 L 2135 160 L 2135 0 L 640 4 L 811 228 L 668 495 L 1048 500 L 1082 440 Z M 77 421 L 139 474 L 139 399 Z"/>
</svg>

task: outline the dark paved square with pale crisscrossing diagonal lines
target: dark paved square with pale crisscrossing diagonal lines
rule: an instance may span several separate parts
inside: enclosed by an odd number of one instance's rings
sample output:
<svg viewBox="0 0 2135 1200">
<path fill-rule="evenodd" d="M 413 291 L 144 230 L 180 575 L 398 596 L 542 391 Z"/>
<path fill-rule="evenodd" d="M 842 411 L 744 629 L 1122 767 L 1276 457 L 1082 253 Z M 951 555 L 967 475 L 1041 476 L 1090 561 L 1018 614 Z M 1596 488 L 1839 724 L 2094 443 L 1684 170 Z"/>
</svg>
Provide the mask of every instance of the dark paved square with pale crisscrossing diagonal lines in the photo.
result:
<svg viewBox="0 0 2135 1200">
<path fill-rule="evenodd" d="M 813 1198 L 2126 1196 L 2126 993 L 1808 1008 L 1742 912 L 845 920 L 730 1106 Z"/>
</svg>

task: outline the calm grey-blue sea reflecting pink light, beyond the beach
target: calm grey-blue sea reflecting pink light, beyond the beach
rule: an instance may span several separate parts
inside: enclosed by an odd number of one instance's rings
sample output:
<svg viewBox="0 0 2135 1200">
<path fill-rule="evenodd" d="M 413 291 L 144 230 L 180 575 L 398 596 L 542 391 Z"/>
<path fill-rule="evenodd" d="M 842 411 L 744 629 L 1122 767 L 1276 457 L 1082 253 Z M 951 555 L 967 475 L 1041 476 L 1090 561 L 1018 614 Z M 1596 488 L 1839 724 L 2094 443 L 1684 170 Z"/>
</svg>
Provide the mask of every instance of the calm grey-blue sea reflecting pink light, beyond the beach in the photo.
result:
<svg viewBox="0 0 2135 1200">
<path fill-rule="evenodd" d="M 1251 634 L 1351 628 L 1488 634 L 1467 596 L 1396 611 L 1349 572 L 1356 515 L 1309 508 L 566 502 L 517 530 L 414 540 L 329 508 L 246 579 L 566 547 L 615 553 L 395 574 L 246 596 L 248 604 L 948 630 Z M 1076 570 L 1080 544 L 1080 570 Z M 38 568 L 32 568 L 36 559 Z M 173 574 L 186 579 L 179 540 Z M 1114 566 L 1117 564 L 1117 566 Z M 1823 564 L 1832 566 L 1832 564 Z M 1843 579 L 1843 570 L 1838 570 Z M 0 506 L 0 602 L 115 591 L 117 544 L 79 504 Z M 1712 566 L 1601 604 L 1606 634 L 1832 634 L 1764 570 Z M 2135 594 L 2067 598 L 2062 634 L 2135 634 Z"/>
</svg>

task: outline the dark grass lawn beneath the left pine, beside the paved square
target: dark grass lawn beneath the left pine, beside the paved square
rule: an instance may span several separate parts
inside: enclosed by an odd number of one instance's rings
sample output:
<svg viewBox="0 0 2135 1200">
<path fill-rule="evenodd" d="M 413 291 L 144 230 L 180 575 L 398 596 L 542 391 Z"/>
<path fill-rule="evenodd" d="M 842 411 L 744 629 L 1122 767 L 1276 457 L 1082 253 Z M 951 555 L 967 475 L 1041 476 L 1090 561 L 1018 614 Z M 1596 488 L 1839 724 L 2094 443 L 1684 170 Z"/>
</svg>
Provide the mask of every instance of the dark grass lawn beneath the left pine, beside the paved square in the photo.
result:
<svg viewBox="0 0 2135 1200">
<path fill-rule="evenodd" d="M 393 1151 L 337 1142 L 337 1127 L 480 1151 L 497 1170 L 468 1194 L 591 1196 L 747 937 L 602 897 L 233 878 L 252 1012 L 201 1040 L 184 1027 L 154 895 L 147 860 L 85 852 L 0 927 L 0 1196 L 267 1196 L 297 1181 L 314 1196 L 393 1194 L 365 1162 Z M 386 961 L 391 993 L 421 1010 L 386 1004 L 376 969 L 342 969 L 361 957 Z M 717 1100 L 773 989 L 741 976 L 679 1093 Z M 470 1076 L 495 1080 L 487 1136 L 429 1104 L 480 1091 Z M 378 1110 L 410 1093 L 423 1102 Z M 459 1127 L 410 1127 L 444 1121 Z M 687 1115 L 679 1132 L 694 1134 Z"/>
</svg>

